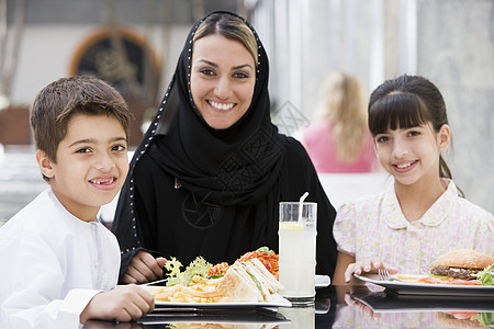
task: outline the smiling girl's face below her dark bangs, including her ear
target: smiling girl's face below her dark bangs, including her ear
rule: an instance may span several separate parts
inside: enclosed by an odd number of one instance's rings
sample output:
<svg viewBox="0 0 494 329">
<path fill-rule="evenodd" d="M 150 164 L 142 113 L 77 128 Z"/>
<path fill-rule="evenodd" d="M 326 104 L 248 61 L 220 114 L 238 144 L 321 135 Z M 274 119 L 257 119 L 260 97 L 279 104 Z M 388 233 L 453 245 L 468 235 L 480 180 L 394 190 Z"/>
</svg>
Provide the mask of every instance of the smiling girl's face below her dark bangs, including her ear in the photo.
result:
<svg viewBox="0 0 494 329">
<path fill-rule="evenodd" d="M 442 125 L 438 133 L 431 124 L 388 131 L 374 137 L 375 154 L 395 183 L 412 185 L 439 179 L 439 155 L 449 146 L 450 131 Z"/>
</svg>

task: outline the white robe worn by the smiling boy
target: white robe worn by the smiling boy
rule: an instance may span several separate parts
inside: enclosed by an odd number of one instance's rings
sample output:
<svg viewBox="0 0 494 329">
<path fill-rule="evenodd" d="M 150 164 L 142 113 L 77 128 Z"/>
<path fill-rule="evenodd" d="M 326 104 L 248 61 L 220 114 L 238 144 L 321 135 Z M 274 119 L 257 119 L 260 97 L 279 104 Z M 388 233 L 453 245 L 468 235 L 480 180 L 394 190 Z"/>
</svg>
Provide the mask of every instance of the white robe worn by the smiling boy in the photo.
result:
<svg viewBox="0 0 494 329">
<path fill-rule="evenodd" d="M 0 228 L 0 328 L 79 328 L 89 300 L 116 286 L 120 248 L 48 189 Z"/>
</svg>

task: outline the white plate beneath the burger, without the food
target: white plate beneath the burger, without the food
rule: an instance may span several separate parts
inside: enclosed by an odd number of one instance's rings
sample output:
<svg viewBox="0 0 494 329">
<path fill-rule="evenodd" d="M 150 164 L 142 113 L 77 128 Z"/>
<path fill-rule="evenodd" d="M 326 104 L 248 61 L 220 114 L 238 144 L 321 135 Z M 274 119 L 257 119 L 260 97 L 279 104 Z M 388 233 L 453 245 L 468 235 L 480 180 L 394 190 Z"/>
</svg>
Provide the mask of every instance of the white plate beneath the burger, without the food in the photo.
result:
<svg viewBox="0 0 494 329">
<path fill-rule="evenodd" d="M 494 298 L 494 286 L 427 284 L 406 281 L 380 281 L 378 274 L 353 274 L 355 277 L 385 287 L 400 295 L 429 296 L 474 296 Z M 405 276 L 425 277 L 427 275 L 403 274 Z M 396 275 L 392 275 L 396 277 Z"/>
</svg>

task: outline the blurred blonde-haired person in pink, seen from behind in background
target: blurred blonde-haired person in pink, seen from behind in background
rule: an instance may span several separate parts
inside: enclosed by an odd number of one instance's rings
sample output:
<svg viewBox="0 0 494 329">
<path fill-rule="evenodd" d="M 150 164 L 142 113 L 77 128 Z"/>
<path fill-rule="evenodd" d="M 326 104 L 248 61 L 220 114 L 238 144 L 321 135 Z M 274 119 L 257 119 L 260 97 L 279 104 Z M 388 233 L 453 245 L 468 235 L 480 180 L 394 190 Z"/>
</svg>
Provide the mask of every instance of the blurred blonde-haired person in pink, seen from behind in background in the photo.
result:
<svg viewBox="0 0 494 329">
<path fill-rule="evenodd" d="M 327 76 L 317 109 L 321 120 L 302 135 L 318 173 L 377 170 L 366 106 L 367 98 L 357 77 L 343 71 Z"/>
</svg>

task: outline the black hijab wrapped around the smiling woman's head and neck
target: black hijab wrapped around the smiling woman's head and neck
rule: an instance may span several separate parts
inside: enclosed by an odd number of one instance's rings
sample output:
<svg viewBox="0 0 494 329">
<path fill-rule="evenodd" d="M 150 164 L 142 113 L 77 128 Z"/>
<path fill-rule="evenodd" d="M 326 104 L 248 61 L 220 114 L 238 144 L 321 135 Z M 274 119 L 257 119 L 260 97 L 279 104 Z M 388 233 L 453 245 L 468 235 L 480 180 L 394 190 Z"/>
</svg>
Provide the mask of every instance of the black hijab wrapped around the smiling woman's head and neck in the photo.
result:
<svg viewBox="0 0 494 329">
<path fill-rule="evenodd" d="M 222 14 L 225 13 L 213 13 Z M 170 84 L 162 106 L 146 134 L 147 139 L 160 134 L 161 112 L 166 113 L 169 107 L 177 109 L 176 121 L 165 133 L 168 138 L 156 144 L 156 149 L 149 152 L 184 189 L 195 191 L 197 195 L 206 197 L 211 203 L 224 206 L 255 204 L 276 181 L 282 158 L 280 135 L 270 120 L 268 58 L 255 34 L 258 64 L 251 104 L 229 128 L 211 128 L 197 110 L 190 91 L 192 38 L 201 22 L 189 33 L 175 82 Z M 176 102 L 170 104 L 169 98 L 176 98 Z M 153 127 L 156 123 L 158 132 Z M 139 147 L 138 151 L 142 149 Z"/>
</svg>

